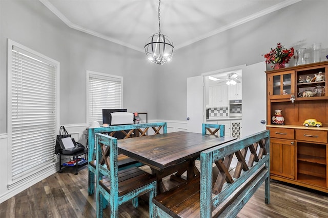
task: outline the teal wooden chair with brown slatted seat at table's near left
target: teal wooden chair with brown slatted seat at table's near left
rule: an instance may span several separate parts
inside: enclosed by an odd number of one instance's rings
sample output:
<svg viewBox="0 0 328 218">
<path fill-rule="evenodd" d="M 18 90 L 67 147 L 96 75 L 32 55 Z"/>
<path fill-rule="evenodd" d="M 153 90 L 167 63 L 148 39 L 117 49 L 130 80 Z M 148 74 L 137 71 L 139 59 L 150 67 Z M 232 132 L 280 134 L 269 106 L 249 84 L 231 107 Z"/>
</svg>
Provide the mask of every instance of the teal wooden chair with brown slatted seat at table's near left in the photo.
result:
<svg viewBox="0 0 328 218">
<path fill-rule="evenodd" d="M 96 210 L 97 218 L 103 217 L 103 209 L 109 203 L 111 217 L 118 218 L 118 207 L 130 200 L 137 200 L 149 192 L 149 202 L 156 195 L 156 176 L 137 167 L 118 171 L 117 138 L 96 133 Z M 107 152 L 109 150 L 109 152 Z M 105 160 L 105 164 L 100 163 Z M 104 205 L 104 200 L 107 200 Z M 149 217 L 153 217 L 152 204 L 149 206 Z"/>
</svg>

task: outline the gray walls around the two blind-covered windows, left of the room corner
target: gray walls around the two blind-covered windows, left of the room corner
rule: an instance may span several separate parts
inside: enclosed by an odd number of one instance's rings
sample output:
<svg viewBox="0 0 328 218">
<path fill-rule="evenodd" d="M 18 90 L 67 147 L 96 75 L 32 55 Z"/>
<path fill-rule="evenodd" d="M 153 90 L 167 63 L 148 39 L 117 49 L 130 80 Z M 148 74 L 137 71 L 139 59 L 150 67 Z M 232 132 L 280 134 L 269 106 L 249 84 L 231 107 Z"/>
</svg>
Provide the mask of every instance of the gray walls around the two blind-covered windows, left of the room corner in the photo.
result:
<svg viewBox="0 0 328 218">
<path fill-rule="evenodd" d="M 7 120 L 7 38 L 60 62 L 60 122 L 86 123 L 86 70 L 124 77 L 124 107 L 157 117 L 156 67 L 146 55 L 73 30 L 39 1 L 0 1 L 0 134 Z"/>
</svg>

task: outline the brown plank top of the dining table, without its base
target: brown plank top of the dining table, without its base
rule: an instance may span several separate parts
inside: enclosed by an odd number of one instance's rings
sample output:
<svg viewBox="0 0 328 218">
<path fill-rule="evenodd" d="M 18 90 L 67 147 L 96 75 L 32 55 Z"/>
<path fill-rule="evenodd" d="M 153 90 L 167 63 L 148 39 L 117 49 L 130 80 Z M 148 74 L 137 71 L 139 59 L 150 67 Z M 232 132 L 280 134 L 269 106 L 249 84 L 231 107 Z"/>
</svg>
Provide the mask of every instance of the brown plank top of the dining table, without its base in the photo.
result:
<svg viewBox="0 0 328 218">
<path fill-rule="evenodd" d="M 185 160 L 196 159 L 200 152 L 235 140 L 191 132 L 172 132 L 120 139 L 118 152 L 161 170 Z"/>
</svg>

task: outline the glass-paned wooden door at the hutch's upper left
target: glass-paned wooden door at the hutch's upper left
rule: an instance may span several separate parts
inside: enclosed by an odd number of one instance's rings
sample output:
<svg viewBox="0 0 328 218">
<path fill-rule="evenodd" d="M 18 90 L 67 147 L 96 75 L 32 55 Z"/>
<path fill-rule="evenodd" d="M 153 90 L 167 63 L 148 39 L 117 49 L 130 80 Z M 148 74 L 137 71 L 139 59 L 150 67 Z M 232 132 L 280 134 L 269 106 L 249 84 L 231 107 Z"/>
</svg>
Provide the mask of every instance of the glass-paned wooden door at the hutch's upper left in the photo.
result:
<svg viewBox="0 0 328 218">
<path fill-rule="evenodd" d="M 268 77 L 268 95 L 271 99 L 289 99 L 295 94 L 294 70 L 277 72 Z"/>
</svg>

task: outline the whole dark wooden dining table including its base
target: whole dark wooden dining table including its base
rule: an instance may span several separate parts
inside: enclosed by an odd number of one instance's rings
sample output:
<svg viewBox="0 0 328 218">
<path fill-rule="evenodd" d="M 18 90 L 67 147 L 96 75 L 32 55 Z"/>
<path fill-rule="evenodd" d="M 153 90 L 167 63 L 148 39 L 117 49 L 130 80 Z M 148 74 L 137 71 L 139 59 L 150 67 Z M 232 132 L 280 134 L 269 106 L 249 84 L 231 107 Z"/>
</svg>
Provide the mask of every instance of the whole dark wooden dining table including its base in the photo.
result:
<svg viewBox="0 0 328 218">
<path fill-rule="evenodd" d="M 170 132 L 117 141 L 118 153 L 129 156 L 151 168 L 157 177 L 157 192 L 167 191 L 162 178 L 171 175 L 176 181 L 187 181 L 199 176 L 195 161 L 204 150 L 220 146 L 233 137 L 219 137 L 192 132 Z M 186 179 L 181 175 L 187 171 Z"/>
</svg>

